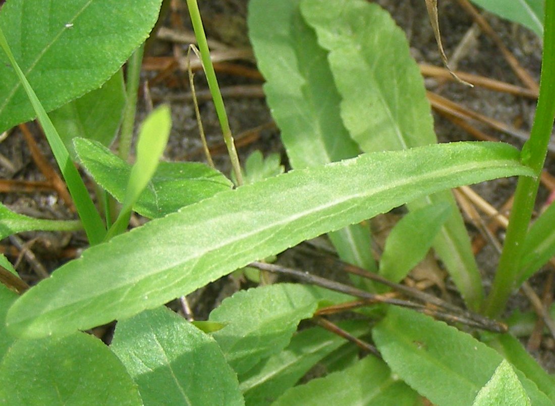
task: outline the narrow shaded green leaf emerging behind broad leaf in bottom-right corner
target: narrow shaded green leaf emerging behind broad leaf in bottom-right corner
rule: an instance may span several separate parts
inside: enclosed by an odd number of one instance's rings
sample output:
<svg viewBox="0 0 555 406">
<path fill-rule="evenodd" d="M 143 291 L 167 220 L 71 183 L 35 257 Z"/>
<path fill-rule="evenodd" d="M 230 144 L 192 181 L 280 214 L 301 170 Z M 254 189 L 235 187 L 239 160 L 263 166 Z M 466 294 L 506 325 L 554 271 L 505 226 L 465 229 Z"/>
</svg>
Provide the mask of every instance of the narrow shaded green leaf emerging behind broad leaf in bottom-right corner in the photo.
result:
<svg viewBox="0 0 555 406">
<path fill-rule="evenodd" d="M 489 334 L 488 334 L 489 335 Z M 539 390 L 545 393 L 555 404 L 555 377 L 549 375 L 537 361 L 532 358 L 526 348 L 511 334 L 492 334 L 486 344 L 497 350 L 515 368 L 522 371 L 529 380 L 538 385 Z"/>
</svg>

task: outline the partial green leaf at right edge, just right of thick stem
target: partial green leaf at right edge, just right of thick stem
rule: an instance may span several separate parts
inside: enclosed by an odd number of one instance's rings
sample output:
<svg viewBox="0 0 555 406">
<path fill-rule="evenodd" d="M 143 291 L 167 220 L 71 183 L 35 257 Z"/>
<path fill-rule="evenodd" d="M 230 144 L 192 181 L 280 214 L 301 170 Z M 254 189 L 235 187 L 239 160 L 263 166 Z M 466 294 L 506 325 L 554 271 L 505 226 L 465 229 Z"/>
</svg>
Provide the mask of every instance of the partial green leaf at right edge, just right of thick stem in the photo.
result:
<svg viewBox="0 0 555 406">
<path fill-rule="evenodd" d="M 532 224 L 524 239 L 521 271 L 516 285 L 531 277 L 555 255 L 555 204 L 550 204 Z"/>
</svg>

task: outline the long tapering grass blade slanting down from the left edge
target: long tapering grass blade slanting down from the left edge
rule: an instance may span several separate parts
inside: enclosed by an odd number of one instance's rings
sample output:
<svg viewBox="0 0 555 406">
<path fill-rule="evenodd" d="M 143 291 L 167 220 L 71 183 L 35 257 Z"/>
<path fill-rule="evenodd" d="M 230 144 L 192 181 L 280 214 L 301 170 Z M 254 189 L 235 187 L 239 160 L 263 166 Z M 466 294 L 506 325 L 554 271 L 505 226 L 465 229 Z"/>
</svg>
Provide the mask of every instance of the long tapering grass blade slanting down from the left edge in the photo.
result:
<svg viewBox="0 0 555 406">
<path fill-rule="evenodd" d="M 85 229 L 85 233 L 87 233 L 89 243 L 94 245 L 102 242 L 104 235 L 106 234 L 102 218 L 100 218 L 100 214 L 94 207 L 94 203 L 90 198 L 85 184 L 83 183 L 83 179 L 81 179 L 77 168 L 75 168 L 73 162 L 71 161 L 68 150 L 65 148 L 62 139 L 56 131 L 56 128 L 54 128 L 52 121 L 37 98 L 37 94 L 34 92 L 31 84 L 27 81 L 27 78 L 21 68 L 19 68 L 16 59 L 13 57 L 12 51 L 9 48 L 6 37 L 1 29 L 0 46 L 4 49 L 4 52 L 6 52 L 6 55 L 8 56 L 13 69 L 16 71 L 19 81 L 21 82 L 27 96 L 29 97 L 29 101 L 34 108 L 34 111 L 37 114 L 38 121 L 41 123 L 44 134 L 48 140 L 48 144 L 50 145 L 54 158 L 56 158 L 56 162 L 60 168 L 60 172 L 62 172 L 65 183 L 67 183 L 69 193 L 71 194 L 73 202 L 75 203 L 75 208 L 77 208 L 77 212 L 79 213 L 79 218 L 82 220 L 83 228 Z"/>
</svg>

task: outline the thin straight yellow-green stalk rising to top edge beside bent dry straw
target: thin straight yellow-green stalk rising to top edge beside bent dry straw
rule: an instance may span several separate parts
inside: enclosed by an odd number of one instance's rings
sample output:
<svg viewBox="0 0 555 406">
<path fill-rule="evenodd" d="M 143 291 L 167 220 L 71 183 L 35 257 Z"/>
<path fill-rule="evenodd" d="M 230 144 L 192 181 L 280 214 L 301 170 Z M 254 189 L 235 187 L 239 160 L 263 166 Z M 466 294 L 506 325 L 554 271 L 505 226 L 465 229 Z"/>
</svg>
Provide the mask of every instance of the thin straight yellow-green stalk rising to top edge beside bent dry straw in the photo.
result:
<svg viewBox="0 0 555 406">
<path fill-rule="evenodd" d="M 189 8 L 191 22 L 193 23 L 196 42 L 198 42 L 199 45 L 200 56 L 203 62 L 206 80 L 208 81 L 208 87 L 210 88 L 210 93 L 214 101 L 216 114 L 218 114 L 218 120 L 220 121 L 221 132 L 224 135 L 224 142 L 226 147 L 228 148 L 229 158 L 231 159 L 231 166 L 233 167 L 233 172 L 235 173 L 235 179 L 237 179 L 237 183 L 240 186 L 241 184 L 243 184 L 243 175 L 241 174 L 239 157 L 237 156 L 235 143 L 233 141 L 233 136 L 231 135 L 231 129 L 229 128 L 228 115 L 225 112 L 224 100 L 221 97 L 220 87 L 218 86 L 218 79 L 216 79 L 214 66 L 210 59 L 210 51 L 208 49 L 208 42 L 206 42 L 203 21 L 200 18 L 199 6 L 196 3 L 196 0 L 187 0 L 187 7 Z"/>
</svg>

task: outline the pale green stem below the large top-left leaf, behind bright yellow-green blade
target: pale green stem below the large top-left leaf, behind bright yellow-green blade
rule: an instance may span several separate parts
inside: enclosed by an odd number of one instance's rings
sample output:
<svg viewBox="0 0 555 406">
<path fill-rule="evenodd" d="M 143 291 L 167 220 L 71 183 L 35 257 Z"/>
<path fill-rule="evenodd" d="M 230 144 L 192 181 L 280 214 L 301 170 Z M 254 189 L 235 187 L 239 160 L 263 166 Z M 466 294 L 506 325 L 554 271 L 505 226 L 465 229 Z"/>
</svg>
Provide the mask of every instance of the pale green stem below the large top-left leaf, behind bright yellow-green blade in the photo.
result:
<svg viewBox="0 0 555 406">
<path fill-rule="evenodd" d="M 139 91 L 140 69 L 143 62 L 144 43 L 135 49 L 127 62 L 127 81 L 125 93 L 127 101 L 123 111 L 122 131 L 119 137 L 118 155 L 124 161 L 129 158 L 133 129 L 135 127 L 135 112 L 137 111 L 137 93 Z"/>
</svg>

